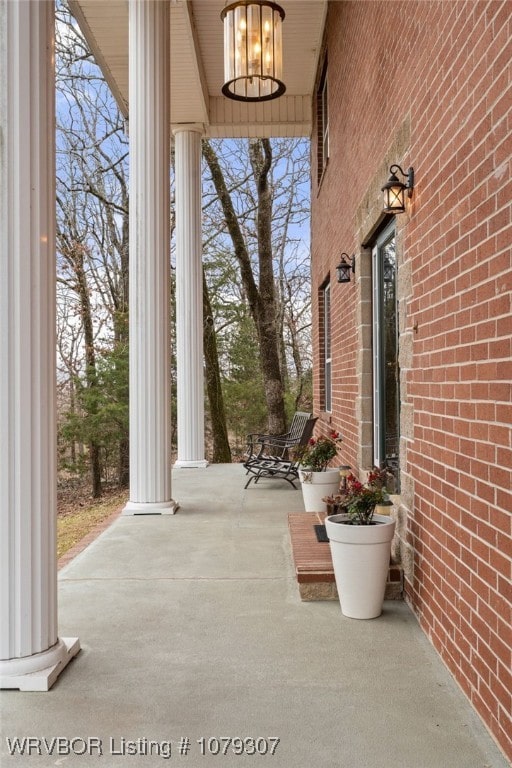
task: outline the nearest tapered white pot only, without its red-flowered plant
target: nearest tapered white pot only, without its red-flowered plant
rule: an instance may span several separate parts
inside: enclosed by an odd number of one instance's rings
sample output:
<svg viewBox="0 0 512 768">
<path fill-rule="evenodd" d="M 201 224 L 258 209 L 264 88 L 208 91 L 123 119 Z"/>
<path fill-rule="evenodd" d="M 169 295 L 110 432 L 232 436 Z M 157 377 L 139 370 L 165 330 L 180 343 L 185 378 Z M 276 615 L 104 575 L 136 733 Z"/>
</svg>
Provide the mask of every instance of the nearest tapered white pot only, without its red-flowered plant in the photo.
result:
<svg viewBox="0 0 512 768">
<path fill-rule="evenodd" d="M 346 515 L 325 520 L 341 612 L 352 619 L 382 613 L 395 521 L 373 516 L 375 525 L 344 525 Z"/>
</svg>

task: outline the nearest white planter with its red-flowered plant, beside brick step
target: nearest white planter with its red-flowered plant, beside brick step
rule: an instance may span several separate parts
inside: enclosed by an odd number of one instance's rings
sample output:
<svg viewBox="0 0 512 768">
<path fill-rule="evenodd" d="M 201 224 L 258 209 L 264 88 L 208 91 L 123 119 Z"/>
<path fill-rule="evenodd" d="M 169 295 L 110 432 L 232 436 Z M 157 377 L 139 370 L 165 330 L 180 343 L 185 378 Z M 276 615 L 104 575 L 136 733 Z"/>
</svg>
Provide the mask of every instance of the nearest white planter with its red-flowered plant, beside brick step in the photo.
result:
<svg viewBox="0 0 512 768">
<path fill-rule="evenodd" d="M 395 532 L 394 519 L 375 514 L 388 494 L 378 478 L 371 480 L 371 474 L 367 483 L 349 475 L 346 512 L 325 519 L 341 611 L 354 619 L 373 619 L 382 613 Z"/>
</svg>

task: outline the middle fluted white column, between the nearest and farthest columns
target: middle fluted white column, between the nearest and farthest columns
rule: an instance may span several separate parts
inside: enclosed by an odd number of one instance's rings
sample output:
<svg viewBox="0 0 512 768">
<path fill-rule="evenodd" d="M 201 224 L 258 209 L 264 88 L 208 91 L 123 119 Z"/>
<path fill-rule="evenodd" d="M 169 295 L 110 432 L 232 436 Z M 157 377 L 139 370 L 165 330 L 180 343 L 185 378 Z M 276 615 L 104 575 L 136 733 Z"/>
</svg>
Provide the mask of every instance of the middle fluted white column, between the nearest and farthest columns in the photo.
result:
<svg viewBox="0 0 512 768">
<path fill-rule="evenodd" d="M 169 3 L 129 0 L 130 501 L 172 514 Z"/>
</svg>

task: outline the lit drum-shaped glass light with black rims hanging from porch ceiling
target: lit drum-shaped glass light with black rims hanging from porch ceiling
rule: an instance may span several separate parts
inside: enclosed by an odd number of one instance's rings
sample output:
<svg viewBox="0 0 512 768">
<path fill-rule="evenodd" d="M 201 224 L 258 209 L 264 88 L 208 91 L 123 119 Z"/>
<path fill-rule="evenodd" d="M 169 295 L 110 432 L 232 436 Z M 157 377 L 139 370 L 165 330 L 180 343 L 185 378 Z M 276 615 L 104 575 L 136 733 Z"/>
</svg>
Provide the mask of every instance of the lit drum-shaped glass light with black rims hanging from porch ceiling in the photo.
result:
<svg viewBox="0 0 512 768">
<path fill-rule="evenodd" d="M 238 0 L 220 14 L 224 22 L 222 93 L 236 101 L 268 101 L 286 91 L 282 82 L 283 9 L 270 0 Z"/>
</svg>

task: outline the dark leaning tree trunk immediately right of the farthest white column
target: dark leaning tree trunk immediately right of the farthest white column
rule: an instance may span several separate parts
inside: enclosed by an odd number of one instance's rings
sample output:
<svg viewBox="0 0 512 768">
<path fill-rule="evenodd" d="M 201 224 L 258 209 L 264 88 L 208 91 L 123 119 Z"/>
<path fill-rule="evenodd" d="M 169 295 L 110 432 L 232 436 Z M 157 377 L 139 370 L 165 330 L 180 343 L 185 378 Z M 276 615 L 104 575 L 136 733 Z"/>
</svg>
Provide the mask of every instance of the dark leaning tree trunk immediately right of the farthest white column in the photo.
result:
<svg viewBox="0 0 512 768">
<path fill-rule="evenodd" d="M 208 285 L 203 270 L 203 326 L 204 326 L 204 359 L 206 392 L 210 403 L 210 418 L 213 436 L 213 464 L 230 464 L 231 449 L 229 447 L 224 397 L 220 380 L 219 355 L 217 352 L 217 336 L 213 324 L 212 307 L 208 294 Z"/>
</svg>

